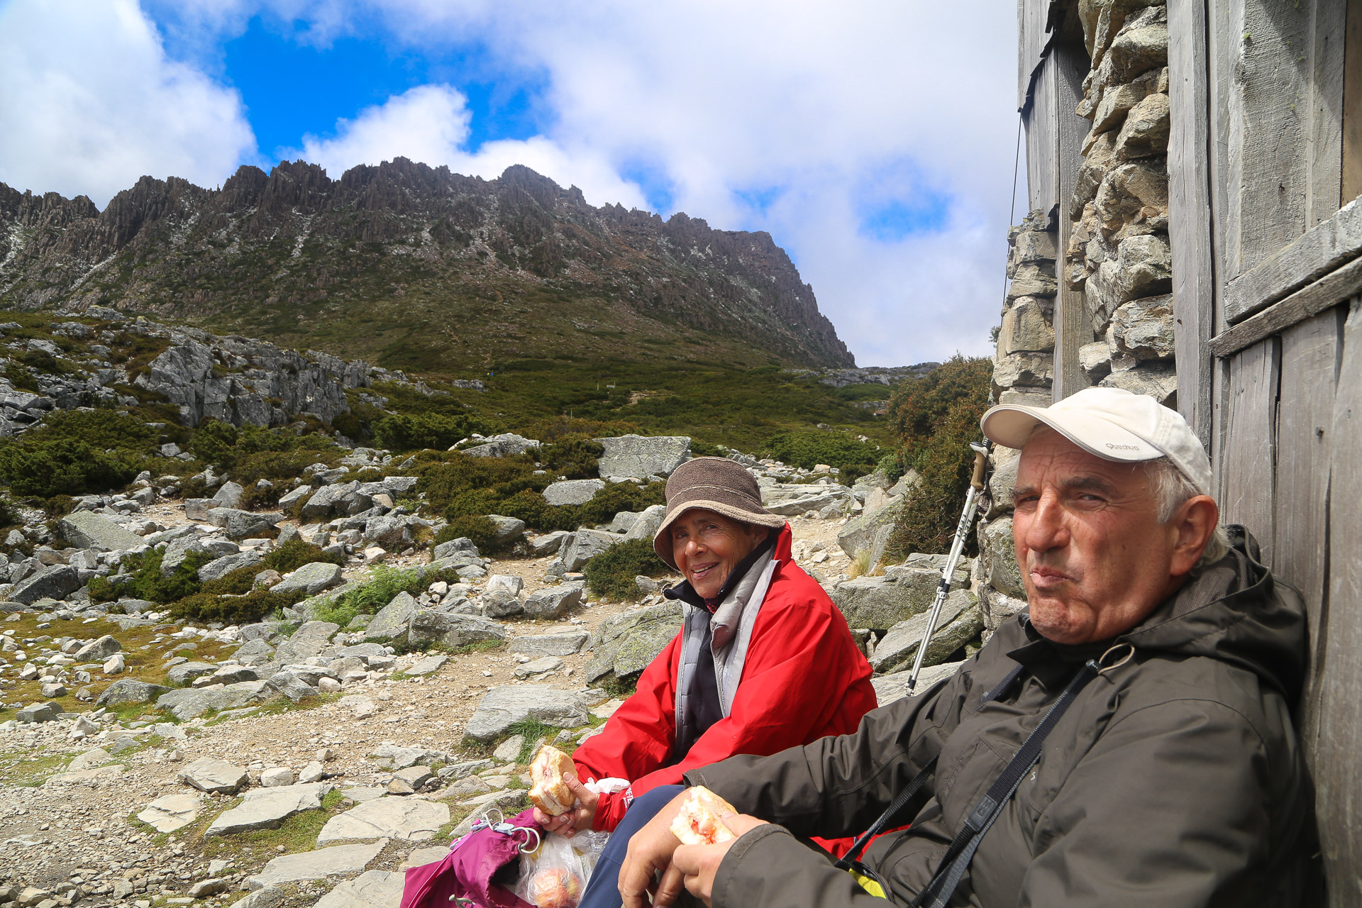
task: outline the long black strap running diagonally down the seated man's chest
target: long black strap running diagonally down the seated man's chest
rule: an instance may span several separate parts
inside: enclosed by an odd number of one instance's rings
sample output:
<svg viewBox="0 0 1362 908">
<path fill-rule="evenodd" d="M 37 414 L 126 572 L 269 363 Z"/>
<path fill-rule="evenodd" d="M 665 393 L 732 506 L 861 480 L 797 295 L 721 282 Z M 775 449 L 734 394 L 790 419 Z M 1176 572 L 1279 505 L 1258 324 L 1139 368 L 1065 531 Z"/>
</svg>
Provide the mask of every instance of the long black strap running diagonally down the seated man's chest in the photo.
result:
<svg viewBox="0 0 1362 908">
<path fill-rule="evenodd" d="M 974 852 L 979 848 L 983 834 L 993 826 L 993 821 L 1002 813 L 1004 805 L 1007 805 L 1008 799 L 1017 790 L 1017 785 L 1022 784 L 1022 779 L 1026 777 L 1027 772 L 1031 771 L 1031 766 L 1041 757 L 1041 746 L 1045 743 L 1046 736 L 1073 704 L 1079 692 L 1096 678 L 1098 672 L 1098 663 L 1092 660 L 1088 660 L 1079 670 L 1079 674 L 1073 677 L 1073 681 L 1064 689 L 1060 698 L 1054 701 L 1054 705 L 1041 719 L 1041 724 L 1027 735 L 1026 742 L 1012 757 L 1002 775 L 989 785 L 987 794 L 979 798 L 974 810 L 966 817 L 960 832 L 951 841 L 945 856 L 941 858 L 941 864 L 932 875 L 930 882 L 910 903 L 908 908 L 945 908 L 951 901 L 951 896 L 955 894 L 956 886 L 960 885 L 960 879 L 964 877 Z"/>
</svg>

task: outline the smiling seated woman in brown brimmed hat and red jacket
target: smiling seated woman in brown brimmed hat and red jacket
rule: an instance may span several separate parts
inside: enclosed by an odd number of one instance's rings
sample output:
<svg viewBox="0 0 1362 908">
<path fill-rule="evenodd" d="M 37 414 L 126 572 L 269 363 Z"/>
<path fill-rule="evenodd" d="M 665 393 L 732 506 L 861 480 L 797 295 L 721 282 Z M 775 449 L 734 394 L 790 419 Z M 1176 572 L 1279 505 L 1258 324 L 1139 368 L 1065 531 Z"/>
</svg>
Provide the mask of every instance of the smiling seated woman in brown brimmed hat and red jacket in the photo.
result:
<svg viewBox="0 0 1362 908">
<path fill-rule="evenodd" d="M 689 460 L 667 481 L 652 547 L 685 580 L 665 592 L 684 625 L 637 690 L 572 760 L 575 810 L 535 811 L 553 832 L 613 834 L 583 908 L 618 905 L 628 837 L 671 799 L 681 773 L 734 754 L 772 754 L 855 730 L 874 709 L 870 666 L 846 618 L 790 557 L 790 527 L 761 506 L 756 479 L 722 457 Z M 624 779 L 595 794 L 583 780 Z M 656 803 L 652 803 L 656 802 Z"/>
</svg>

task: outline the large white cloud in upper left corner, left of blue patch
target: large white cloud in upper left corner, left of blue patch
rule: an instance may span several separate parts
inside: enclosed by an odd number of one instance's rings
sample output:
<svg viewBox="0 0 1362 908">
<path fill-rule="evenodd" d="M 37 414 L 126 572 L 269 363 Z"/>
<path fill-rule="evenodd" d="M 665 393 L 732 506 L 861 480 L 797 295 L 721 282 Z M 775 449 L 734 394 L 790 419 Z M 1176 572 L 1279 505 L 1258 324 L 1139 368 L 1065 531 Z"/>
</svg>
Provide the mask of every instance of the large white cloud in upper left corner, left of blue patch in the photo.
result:
<svg viewBox="0 0 1362 908">
<path fill-rule="evenodd" d="M 168 60 L 133 0 L 0 7 L 0 181 L 104 206 L 144 174 L 215 185 L 253 152 L 240 97 Z"/>
</svg>

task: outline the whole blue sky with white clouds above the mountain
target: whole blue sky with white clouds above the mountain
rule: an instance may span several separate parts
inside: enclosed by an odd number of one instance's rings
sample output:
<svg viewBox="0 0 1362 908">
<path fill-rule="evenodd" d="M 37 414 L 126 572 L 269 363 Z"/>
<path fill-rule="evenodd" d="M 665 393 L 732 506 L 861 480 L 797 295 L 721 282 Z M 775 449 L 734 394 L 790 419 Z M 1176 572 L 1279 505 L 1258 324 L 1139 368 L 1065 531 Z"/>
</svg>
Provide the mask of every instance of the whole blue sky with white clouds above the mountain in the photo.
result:
<svg viewBox="0 0 1362 908">
<path fill-rule="evenodd" d="M 104 206 L 143 174 L 211 187 L 281 158 L 523 163 L 591 204 L 770 233 L 862 365 L 987 354 L 1016 23 L 979 10 L 7 0 L 0 181 Z"/>
</svg>

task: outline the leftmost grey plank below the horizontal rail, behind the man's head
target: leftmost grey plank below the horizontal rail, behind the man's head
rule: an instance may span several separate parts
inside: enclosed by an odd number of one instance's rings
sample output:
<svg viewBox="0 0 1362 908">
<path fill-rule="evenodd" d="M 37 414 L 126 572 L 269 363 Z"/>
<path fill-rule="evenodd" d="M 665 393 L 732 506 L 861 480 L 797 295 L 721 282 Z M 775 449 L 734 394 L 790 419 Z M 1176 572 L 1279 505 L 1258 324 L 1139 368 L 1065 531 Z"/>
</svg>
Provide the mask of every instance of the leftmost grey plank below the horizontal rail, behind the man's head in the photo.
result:
<svg viewBox="0 0 1362 908">
<path fill-rule="evenodd" d="M 1267 338 L 1230 358 L 1226 447 L 1222 457 L 1226 523 L 1242 523 L 1272 566 L 1276 402 L 1280 339 Z"/>
</svg>

